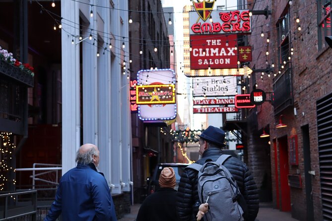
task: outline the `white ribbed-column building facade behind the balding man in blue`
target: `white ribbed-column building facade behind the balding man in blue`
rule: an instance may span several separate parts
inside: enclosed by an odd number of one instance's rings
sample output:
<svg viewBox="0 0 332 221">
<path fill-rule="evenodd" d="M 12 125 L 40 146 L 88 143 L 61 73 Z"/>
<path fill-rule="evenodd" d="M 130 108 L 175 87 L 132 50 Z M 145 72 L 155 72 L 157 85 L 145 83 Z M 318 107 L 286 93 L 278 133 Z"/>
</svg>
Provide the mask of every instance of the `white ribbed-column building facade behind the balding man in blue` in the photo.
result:
<svg viewBox="0 0 332 221">
<path fill-rule="evenodd" d="M 62 0 L 61 14 L 62 171 L 92 143 L 112 194 L 130 191 L 128 1 Z"/>
</svg>

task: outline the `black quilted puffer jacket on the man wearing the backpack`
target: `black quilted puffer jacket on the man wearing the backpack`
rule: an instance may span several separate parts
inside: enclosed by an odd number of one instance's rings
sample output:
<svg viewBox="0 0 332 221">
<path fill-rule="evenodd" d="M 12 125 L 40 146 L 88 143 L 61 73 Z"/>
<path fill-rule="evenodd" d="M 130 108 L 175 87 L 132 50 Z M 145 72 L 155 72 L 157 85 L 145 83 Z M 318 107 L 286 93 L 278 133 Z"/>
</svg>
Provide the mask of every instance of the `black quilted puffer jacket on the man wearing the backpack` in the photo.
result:
<svg viewBox="0 0 332 221">
<path fill-rule="evenodd" d="M 220 155 L 222 155 L 221 149 L 211 147 L 204 151 L 202 159 L 196 163 L 203 165 L 206 161 L 215 162 Z M 248 207 L 244 215 L 245 221 L 254 221 L 259 210 L 259 195 L 249 168 L 235 157 L 228 158 L 223 166 L 233 175 L 245 198 Z M 198 171 L 191 168 L 185 169 L 181 175 L 176 204 L 178 218 L 181 221 L 196 221 L 200 205 L 197 184 Z"/>
</svg>

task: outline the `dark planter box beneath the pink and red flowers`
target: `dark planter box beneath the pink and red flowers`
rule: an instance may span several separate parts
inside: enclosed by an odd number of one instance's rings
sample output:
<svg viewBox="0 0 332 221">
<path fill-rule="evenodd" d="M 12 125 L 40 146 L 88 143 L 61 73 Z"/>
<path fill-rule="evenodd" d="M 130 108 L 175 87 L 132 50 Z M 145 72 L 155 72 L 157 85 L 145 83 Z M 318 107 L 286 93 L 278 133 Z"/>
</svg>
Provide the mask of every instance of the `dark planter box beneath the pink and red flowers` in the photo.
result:
<svg viewBox="0 0 332 221">
<path fill-rule="evenodd" d="M 0 78 L 1 77 L 7 77 L 27 87 L 33 87 L 34 78 L 31 74 L 3 60 L 0 60 Z"/>
</svg>

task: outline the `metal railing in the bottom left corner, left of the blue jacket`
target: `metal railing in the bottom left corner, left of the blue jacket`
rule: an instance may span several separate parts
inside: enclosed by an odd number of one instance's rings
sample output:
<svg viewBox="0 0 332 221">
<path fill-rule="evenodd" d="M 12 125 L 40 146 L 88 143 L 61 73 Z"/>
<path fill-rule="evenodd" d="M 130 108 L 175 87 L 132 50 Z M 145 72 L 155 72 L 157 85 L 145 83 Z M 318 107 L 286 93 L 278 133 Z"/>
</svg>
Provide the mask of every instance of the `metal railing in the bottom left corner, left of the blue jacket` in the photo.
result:
<svg viewBox="0 0 332 221">
<path fill-rule="evenodd" d="M 3 193 L 0 202 L 0 221 L 37 220 L 37 190 Z"/>
</svg>

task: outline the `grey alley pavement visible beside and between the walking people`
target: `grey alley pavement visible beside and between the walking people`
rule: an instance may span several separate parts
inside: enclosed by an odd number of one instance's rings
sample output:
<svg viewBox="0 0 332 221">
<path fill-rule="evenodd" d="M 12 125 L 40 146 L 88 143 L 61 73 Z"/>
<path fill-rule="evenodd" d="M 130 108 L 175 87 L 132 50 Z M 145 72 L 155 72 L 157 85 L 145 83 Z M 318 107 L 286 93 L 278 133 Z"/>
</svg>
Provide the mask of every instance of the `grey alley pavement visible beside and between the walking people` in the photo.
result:
<svg viewBox="0 0 332 221">
<path fill-rule="evenodd" d="M 126 214 L 118 221 L 135 221 L 139 210 L 140 204 L 131 206 L 131 213 Z M 255 221 L 297 221 L 291 217 L 290 212 L 281 212 L 273 209 L 270 203 L 260 203 L 260 211 Z"/>
</svg>

